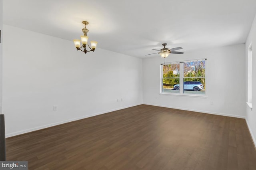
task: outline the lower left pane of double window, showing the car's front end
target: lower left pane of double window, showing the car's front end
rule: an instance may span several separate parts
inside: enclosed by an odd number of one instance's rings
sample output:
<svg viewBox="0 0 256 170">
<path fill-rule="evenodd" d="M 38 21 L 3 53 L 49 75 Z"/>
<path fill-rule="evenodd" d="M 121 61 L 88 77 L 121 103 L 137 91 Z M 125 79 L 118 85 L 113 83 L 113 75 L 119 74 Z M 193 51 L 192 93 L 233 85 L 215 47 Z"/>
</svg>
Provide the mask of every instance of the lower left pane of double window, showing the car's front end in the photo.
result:
<svg viewBox="0 0 256 170">
<path fill-rule="evenodd" d="M 163 79 L 163 92 L 164 93 L 180 93 L 180 79 L 169 78 Z"/>
</svg>

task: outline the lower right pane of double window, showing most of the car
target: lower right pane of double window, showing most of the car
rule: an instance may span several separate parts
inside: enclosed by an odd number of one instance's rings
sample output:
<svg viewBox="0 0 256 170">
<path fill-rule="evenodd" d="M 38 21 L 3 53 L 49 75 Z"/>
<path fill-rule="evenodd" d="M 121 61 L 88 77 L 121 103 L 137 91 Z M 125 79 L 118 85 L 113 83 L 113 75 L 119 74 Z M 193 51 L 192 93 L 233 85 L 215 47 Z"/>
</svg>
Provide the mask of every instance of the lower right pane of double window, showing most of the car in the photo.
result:
<svg viewBox="0 0 256 170">
<path fill-rule="evenodd" d="M 183 80 L 183 93 L 205 95 L 205 77 L 184 78 Z"/>
</svg>

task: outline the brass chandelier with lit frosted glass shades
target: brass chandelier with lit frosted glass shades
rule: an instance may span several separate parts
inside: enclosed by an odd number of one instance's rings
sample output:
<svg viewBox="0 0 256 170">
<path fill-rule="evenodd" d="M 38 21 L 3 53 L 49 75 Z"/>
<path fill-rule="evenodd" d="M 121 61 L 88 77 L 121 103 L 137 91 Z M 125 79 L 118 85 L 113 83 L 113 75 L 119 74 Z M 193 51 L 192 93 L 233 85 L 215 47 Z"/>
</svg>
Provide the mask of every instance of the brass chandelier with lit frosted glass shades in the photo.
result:
<svg viewBox="0 0 256 170">
<path fill-rule="evenodd" d="M 84 28 L 82 29 L 82 32 L 84 32 L 84 35 L 80 36 L 81 37 L 81 41 L 78 40 L 78 39 L 73 40 L 74 44 L 75 44 L 75 47 L 76 47 L 77 51 L 80 50 L 80 51 L 83 51 L 84 53 L 87 53 L 89 51 L 94 51 L 96 49 L 97 42 L 96 41 L 91 41 L 91 47 L 87 43 L 88 42 L 87 33 L 89 32 L 89 30 L 86 28 L 86 25 L 88 25 L 89 22 L 83 21 L 82 23 L 84 24 Z M 80 47 L 80 42 L 82 42 L 82 46 L 81 47 Z M 86 45 L 88 45 L 88 47 L 90 48 L 89 51 L 86 49 Z"/>
</svg>

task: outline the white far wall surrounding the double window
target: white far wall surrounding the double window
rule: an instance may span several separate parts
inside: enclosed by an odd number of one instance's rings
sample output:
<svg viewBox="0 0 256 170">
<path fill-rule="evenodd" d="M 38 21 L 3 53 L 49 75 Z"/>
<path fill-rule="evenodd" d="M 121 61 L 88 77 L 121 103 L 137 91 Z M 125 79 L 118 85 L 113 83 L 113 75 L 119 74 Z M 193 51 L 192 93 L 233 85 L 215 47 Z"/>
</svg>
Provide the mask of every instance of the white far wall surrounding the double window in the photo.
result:
<svg viewBox="0 0 256 170">
<path fill-rule="evenodd" d="M 207 58 L 207 97 L 160 95 L 160 56 L 143 60 L 143 103 L 244 118 L 245 44 L 170 54 L 166 62 Z M 180 50 L 182 51 L 182 50 Z M 239 79 L 239 81 L 238 81 Z M 210 105 L 210 102 L 213 105 Z"/>
</svg>

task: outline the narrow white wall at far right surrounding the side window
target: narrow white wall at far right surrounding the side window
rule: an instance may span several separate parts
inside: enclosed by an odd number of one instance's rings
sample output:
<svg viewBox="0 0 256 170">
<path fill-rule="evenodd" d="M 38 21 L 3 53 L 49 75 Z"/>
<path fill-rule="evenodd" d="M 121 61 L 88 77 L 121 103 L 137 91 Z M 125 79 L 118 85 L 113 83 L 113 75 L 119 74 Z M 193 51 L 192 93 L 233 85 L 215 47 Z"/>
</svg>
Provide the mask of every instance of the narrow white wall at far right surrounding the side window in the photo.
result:
<svg viewBox="0 0 256 170">
<path fill-rule="evenodd" d="M 247 77 L 248 77 L 248 47 L 250 45 L 250 43 L 252 43 L 252 109 L 250 109 L 248 107 L 248 105 L 246 105 L 245 109 L 246 109 L 246 122 L 248 124 L 248 128 L 250 130 L 250 133 L 252 135 L 252 138 L 254 140 L 254 144 L 256 146 L 256 68 L 254 67 L 256 65 L 256 16 L 254 18 L 254 22 L 252 23 L 252 28 L 250 30 L 250 33 L 248 35 L 248 38 L 246 40 L 246 44 L 245 44 L 245 65 L 246 65 L 246 93 L 247 93 Z M 247 94 L 246 94 L 247 95 Z M 246 96 L 246 100 L 247 100 L 247 96 Z M 244 103 L 246 102 L 246 100 L 244 101 Z"/>
</svg>

